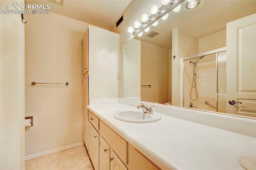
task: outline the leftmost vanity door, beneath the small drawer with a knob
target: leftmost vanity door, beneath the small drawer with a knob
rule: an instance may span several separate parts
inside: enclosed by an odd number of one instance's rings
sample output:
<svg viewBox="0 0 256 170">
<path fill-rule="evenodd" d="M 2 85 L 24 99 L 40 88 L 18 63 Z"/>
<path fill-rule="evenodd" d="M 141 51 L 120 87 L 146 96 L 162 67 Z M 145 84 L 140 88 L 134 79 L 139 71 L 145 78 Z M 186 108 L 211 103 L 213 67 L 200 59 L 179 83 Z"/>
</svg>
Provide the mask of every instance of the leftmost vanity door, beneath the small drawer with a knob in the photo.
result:
<svg viewBox="0 0 256 170">
<path fill-rule="evenodd" d="M 99 133 L 95 130 L 91 123 L 89 124 L 89 142 L 88 152 L 92 160 L 92 164 L 96 170 L 99 169 Z"/>
</svg>

